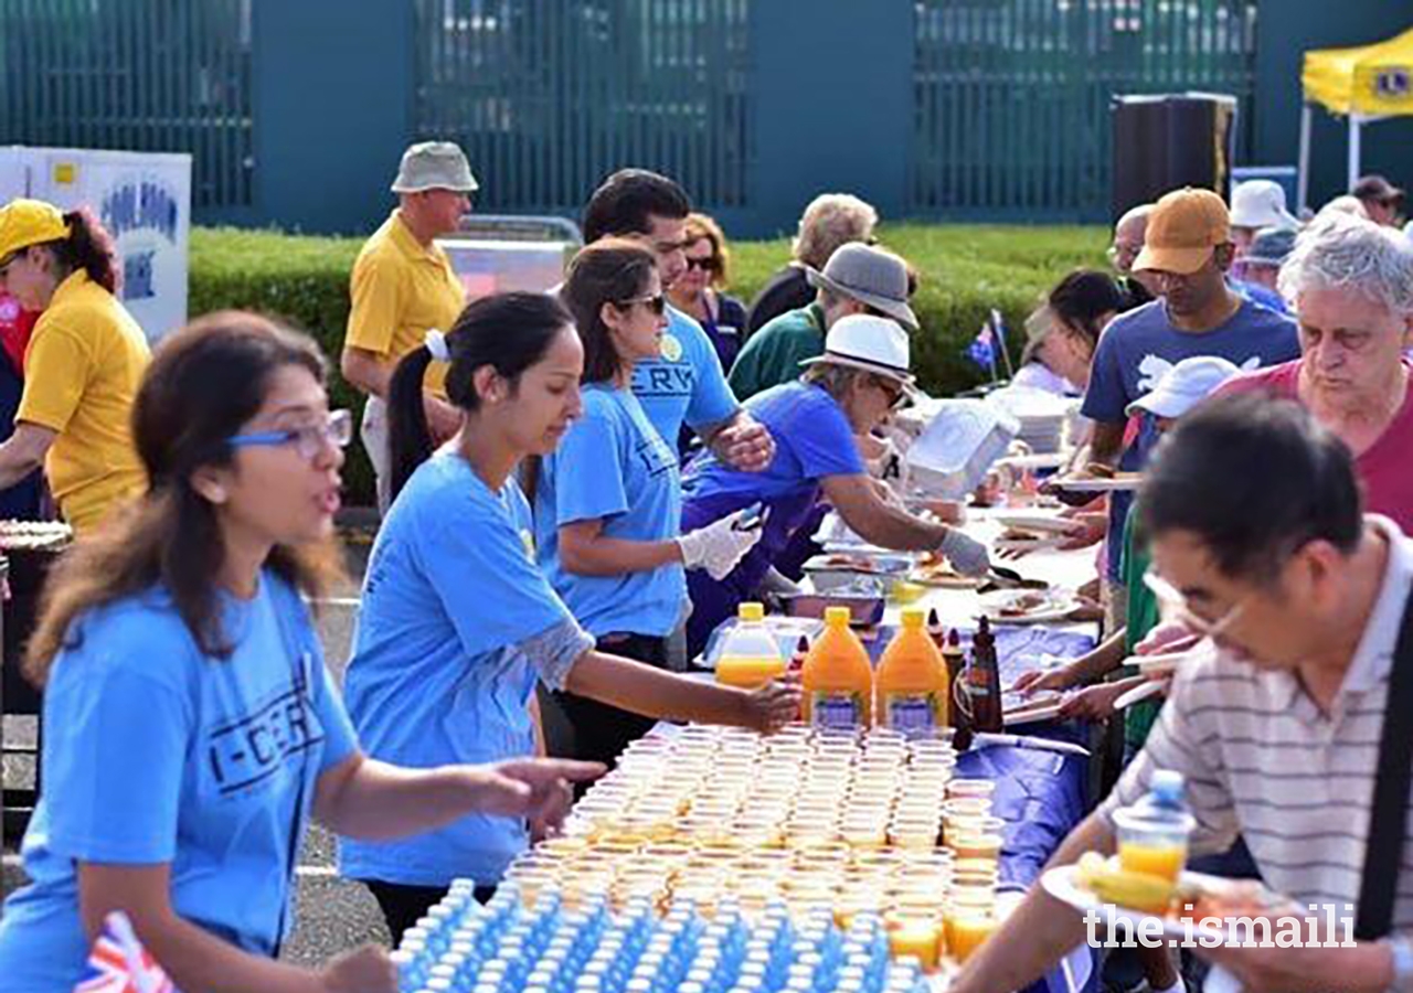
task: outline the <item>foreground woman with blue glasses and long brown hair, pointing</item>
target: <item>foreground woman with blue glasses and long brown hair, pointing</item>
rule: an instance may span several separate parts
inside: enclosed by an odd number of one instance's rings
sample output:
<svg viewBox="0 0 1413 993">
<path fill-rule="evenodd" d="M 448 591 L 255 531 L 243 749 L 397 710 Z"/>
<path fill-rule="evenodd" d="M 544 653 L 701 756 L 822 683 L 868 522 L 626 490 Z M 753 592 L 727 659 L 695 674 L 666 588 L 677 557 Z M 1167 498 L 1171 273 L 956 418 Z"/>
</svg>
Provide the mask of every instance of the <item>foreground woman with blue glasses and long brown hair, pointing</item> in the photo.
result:
<svg viewBox="0 0 1413 993">
<path fill-rule="evenodd" d="M 68 993 L 105 917 L 187 990 L 397 989 L 382 949 L 277 962 L 309 816 L 397 838 L 471 811 L 554 823 L 537 760 L 407 770 L 367 760 L 302 596 L 332 578 L 339 451 L 311 340 L 244 314 L 168 338 L 133 411 L 148 492 L 49 579 L 30 643 L 44 684 L 31 883 L 0 917 L 0 990 Z"/>
</svg>

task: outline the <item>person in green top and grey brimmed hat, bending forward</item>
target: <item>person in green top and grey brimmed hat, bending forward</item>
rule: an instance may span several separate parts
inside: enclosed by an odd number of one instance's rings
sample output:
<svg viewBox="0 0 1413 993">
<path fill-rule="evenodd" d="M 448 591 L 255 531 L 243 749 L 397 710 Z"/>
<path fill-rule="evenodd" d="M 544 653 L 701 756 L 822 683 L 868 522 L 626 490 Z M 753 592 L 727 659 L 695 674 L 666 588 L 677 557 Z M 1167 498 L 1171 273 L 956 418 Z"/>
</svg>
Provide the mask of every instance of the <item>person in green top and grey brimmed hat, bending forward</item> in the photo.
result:
<svg viewBox="0 0 1413 993">
<path fill-rule="evenodd" d="M 907 263 L 870 244 L 841 246 L 824 270 L 808 270 L 817 295 L 812 304 L 787 311 L 750 336 L 731 369 L 731 388 L 752 397 L 800 376 L 800 363 L 824 350 L 825 335 L 851 314 L 892 318 L 916 329 L 909 307 Z"/>
</svg>

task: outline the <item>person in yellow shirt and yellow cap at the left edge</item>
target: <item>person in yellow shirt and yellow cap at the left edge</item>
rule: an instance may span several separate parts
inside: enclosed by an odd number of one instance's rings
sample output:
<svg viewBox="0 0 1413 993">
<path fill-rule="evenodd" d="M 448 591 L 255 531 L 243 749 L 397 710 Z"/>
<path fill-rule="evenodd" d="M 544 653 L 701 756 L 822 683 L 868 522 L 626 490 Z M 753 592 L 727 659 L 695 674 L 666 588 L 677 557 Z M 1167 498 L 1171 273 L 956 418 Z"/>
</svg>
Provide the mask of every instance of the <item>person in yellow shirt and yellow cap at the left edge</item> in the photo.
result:
<svg viewBox="0 0 1413 993">
<path fill-rule="evenodd" d="M 113 295 L 113 243 L 86 209 L 62 213 L 32 199 L 0 208 L 0 288 L 41 312 L 16 429 L 0 445 L 0 489 L 42 463 L 64 518 L 82 534 L 147 489 L 129 424 L 147 339 Z"/>
</svg>

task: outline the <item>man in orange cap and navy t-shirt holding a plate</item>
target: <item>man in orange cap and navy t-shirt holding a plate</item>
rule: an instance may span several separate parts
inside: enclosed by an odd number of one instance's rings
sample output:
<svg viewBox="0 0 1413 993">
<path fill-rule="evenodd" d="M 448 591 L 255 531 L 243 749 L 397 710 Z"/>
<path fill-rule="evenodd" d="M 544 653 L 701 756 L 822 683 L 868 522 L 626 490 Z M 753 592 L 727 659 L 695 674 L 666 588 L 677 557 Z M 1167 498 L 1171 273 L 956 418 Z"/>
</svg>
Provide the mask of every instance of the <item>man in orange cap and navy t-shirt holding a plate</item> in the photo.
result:
<svg viewBox="0 0 1413 993">
<path fill-rule="evenodd" d="M 1228 285 L 1234 257 L 1231 216 L 1217 194 L 1176 189 L 1154 205 L 1133 270 L 1145 274 L 1159 298 L 1115 318 L 1099 338 L 1084 397 L 1084 415 L 1094 421 L 1091 462 L 1126 470 L 1143 468 L 1157 431 L 1153 424 L 1142 424 L 1125 451 L 1126 411 L 1183 359 L 1210 355 L 1256 369 L 1299 357 L 1296 322 Z M 1058 486 L 1063 490 L 1063 482 Z M 1123 607 L 1118 586 L 1121 538 L 1129 503 L 1125 493 L 1115 493 L 1109 501 L 1106 576 L 1118 616 Z"/>
</svg>

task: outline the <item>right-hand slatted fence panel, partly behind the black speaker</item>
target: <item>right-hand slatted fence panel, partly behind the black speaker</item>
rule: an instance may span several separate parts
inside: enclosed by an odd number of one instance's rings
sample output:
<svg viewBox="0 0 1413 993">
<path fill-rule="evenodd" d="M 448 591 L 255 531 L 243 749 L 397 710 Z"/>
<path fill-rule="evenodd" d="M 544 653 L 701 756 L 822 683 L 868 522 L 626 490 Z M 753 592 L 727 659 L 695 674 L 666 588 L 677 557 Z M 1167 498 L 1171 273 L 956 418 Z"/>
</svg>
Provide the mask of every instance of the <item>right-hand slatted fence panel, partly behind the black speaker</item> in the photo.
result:
<svg viewBox="0 0 1413 993">
<path fill-rule="evenodd" d="M 918 0 L 909 209 L 1099 218 L 1115 93 L 1212 90 L 1252 120 L 1256 0 Z"/>
</svg>

